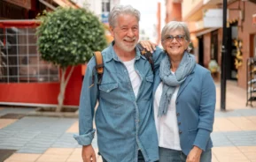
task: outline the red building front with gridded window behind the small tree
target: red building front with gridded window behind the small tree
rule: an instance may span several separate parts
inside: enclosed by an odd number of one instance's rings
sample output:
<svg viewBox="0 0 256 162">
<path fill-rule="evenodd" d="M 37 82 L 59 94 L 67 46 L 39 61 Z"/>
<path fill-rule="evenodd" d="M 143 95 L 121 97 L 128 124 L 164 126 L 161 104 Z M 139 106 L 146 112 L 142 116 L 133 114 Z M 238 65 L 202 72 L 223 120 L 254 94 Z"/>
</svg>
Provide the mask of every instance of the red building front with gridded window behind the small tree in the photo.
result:
<svg viewBox="0 0 256 162">
<path fill-rule="evenodd" d="M 103 6 L 101 2 L 98 5 Z M 0 105 L 58 104 L 60 73 L 58 67 L 40 59 L 35 36 L 38 22 L 32 20 L 37 13 L 53 11 L 58 6 L 79 7 L 68 0 L 0 1 Z M 79 105 L 85 68 L 74 67 L 66 85 L 66 107 Z"/>
</svg>

